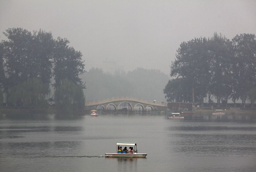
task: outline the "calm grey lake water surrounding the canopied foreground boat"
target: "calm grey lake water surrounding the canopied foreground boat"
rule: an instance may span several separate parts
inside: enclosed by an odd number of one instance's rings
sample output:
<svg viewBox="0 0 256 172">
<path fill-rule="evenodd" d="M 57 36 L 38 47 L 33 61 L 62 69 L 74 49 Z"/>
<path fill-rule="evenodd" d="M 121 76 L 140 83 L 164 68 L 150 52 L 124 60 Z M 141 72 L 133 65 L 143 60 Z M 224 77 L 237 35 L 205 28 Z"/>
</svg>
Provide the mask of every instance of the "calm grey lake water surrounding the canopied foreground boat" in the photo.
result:
<svg viewBox="0 0 256 172">
<path fill-rule="evenodd" d="M 136 142 L 146 158 L 105 158 Z M 0 115 L 0 171 L 256 171 L 256 121 Z"/>
</svg>

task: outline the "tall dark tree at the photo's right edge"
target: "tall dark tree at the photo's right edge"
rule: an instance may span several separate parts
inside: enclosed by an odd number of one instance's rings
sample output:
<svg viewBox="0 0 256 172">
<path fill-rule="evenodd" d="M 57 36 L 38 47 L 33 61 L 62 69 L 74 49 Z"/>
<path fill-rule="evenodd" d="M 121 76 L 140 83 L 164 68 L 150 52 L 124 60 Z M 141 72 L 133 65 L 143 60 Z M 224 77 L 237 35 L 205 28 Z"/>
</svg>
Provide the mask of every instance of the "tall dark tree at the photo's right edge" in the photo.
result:
<svg viewBox="0 0 256 172">
<path fill-rule="evenodd" d="M 255 34 L 236 35 L 232 43 L 236 62 L 233 73 L 236 82 L 235 98 L 240 97 L 245 106 L 246 94 L 253 93 L 250 90 L 256 87 L 256 36 Z"/>
</svg>

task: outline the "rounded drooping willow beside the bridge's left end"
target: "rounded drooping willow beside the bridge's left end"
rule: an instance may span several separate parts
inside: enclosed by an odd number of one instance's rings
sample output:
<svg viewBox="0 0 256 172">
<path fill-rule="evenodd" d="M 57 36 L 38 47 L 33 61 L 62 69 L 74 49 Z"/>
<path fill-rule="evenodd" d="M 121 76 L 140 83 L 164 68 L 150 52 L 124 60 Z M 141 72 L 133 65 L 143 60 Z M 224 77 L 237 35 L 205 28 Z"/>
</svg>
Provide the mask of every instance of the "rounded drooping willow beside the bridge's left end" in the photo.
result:
<svg viewBox="0 0 256 172">
<path fill-rule="evenodd" d="M 55 90 L 55 103 L 59 110 L 71 112 L 84 108 L 84 92 L 82 86 L 76 85 L 68 79 L 60 81 Z"/>
</svg>

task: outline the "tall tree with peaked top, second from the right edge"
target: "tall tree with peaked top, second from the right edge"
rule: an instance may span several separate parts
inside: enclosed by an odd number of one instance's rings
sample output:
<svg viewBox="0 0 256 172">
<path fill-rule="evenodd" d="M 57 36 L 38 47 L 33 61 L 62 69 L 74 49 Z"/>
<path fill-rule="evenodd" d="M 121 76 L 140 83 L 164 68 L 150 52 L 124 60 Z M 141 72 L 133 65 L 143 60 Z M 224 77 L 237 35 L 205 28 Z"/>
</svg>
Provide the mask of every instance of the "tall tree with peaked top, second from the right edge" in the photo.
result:
<svg viewBox="0 0 256 172">
<path fill-rule="evenodd" d="M 212 74 L 209 90 L 220 106 L 220 100 L 227 101 L 232 93 L 232 63 L 234 62 L 232 42 L 225 36 L 214 33 L 209 45 Z"/>
</svg>

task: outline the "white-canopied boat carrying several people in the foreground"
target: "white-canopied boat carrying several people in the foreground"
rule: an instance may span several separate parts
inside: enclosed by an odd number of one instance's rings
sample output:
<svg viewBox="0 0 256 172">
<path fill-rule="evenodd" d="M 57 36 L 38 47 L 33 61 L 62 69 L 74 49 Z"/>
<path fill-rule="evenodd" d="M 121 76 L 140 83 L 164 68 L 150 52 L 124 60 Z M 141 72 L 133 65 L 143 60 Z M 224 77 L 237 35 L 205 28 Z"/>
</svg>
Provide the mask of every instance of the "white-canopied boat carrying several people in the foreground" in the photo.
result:
<svg viewBox="0 0 256 172">
<path fill-rule="evenodd" d="M 122 146 L 134 146 L 134 150 L 123 150 Z M 122 149 L 122 151 L 121 151 Z M 116 143 L 116 153 L 105 153 L 105 157 L 146 157 L 147 153 L 138 153 L 137 143 L 118 142 Z"/>
</svg>

